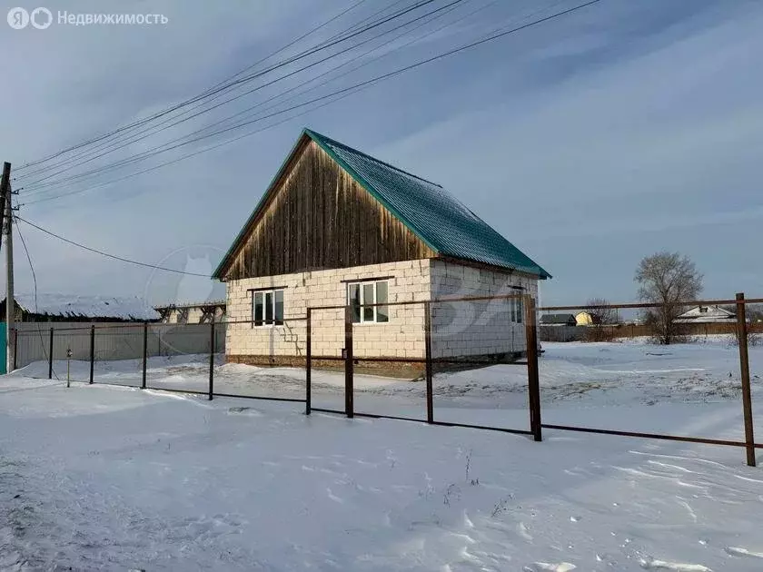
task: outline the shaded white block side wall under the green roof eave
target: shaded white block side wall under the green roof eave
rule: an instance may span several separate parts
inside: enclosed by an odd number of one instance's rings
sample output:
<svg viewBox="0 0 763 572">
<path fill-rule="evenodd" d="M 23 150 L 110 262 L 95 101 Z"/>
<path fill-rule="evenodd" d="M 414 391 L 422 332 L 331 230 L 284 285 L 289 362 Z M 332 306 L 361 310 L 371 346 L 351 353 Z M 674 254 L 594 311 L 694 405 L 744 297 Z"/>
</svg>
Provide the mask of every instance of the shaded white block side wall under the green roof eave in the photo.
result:
<svg viewBox="0 0 763 572">
<path fill-rule="evenodd" d="M 530 293 L 538 281 L 516 273 L 431 261 L 432 299 Z M 516 290 L 520 287 L 522 290 Z M 526 350 L 524 315 L 512 322 L 510 301 L 461 301 L 432 305 L 435 358 L 490 355 Z"/>
</svg>

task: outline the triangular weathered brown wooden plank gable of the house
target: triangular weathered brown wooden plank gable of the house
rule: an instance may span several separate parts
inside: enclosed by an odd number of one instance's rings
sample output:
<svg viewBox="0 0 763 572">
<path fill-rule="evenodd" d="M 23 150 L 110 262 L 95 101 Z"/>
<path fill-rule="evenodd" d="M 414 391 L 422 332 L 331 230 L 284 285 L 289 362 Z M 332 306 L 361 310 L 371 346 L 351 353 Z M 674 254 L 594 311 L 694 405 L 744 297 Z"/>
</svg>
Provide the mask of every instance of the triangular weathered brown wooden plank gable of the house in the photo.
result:
<svg viewBox="0 0 763 572">
<path fill-rule="evenodd" d="M 234 245 L 223 280 L 435 255 L 309 137 Z"/>
</svg>

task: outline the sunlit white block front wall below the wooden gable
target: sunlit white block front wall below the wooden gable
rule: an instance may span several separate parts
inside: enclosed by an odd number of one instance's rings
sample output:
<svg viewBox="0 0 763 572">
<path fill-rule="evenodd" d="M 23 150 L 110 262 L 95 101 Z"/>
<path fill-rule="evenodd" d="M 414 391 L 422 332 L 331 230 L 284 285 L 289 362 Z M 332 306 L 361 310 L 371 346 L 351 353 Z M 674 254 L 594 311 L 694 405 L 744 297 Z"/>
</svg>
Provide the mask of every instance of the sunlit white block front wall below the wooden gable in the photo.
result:
<svg viewBox="0 0 763 572">
<path fill-rule="evenodd" d="M 347 284 L 343 281 L 391 276 L 389 301 L 429 300 L 430 261 L 402 261 L 357 266 L 349 269 L 300 272 L 265 278 L 231 281 L 227 284 L 228 355 L 304 356 L 305 316 L 308 306 L 346 304 Z M 253 328 L 250 288 L 285 287 L 282 326 Z M 422 358 L 424 318 L 422 307 L 391 306 L 390 321 L 356 324 L 353 351 L 358 357 L 391 356 Z M 344 346 L 344 312 L 313 311 L 312 355 L 340 356 Z"/>
</svg>

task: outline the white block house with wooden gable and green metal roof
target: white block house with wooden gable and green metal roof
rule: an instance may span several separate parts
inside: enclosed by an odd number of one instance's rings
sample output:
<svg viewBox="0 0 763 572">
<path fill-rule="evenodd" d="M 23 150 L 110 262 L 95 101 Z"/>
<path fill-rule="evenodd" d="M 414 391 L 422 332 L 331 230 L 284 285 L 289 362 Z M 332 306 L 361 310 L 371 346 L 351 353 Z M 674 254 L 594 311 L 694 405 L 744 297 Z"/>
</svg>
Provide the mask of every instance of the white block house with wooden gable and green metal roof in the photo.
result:
<svg viewBox="0 0 763 572">
<path fill-rule="evenodd" d="M 550 278 L 440 185 L 307 129 L 213 276 L 228 361 L 303 364 L 306 310 L 320 306 L 334 309 L 312 311 L 312 355 L 335 359 L 350 305 L 353 354 L 370 368 L 423 358 L 425 319 L 423 304 L 369 304 L 537 298 Z M 432 304 L 432 355 L 519 356 L 522 321 L 520 299 Z"/>
</svg>

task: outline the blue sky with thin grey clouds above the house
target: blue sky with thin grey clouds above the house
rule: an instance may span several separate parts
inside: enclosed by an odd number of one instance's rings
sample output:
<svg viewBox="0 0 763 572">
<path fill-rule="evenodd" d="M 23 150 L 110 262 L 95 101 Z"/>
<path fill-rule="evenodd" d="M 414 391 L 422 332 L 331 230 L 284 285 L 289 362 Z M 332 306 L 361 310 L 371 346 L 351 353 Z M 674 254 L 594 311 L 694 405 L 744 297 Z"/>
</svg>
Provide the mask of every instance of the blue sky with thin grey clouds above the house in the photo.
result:
<svg viewBox="0 0 763 572">
<path fill-rule="evenodd" d="M 451 1 L 436 0 L 398 21 Z M 391 33 L 405 33 L 391 44 L 380 45 L 391 38 L 382 36 L 48 182 L 187 135 L 353 56 L 361 57 L 348 66 L 365 65 L 290 104 L 577 4 L 461 0 L 443 7 L 436 20 Z M 2 14 L 5 8 L 31 11 L 37 5 L 5 2 Z M 272 64 L 392 0 L 49 1 L 54 23 L 45 30 L 15 30 L 4 17 L 0 160 L 16 170 L 182 102 L 353 5 L 265 63 Z M 64 11 L 159 14 L 167 24 L 66 25 L 57 21 Z M 208 274 L 307 126 L 443 185 L 550 271 L 553 279 L 541 284 L 541 303 L 632 301 L 639 260 L 664 250 L 695 261 L 708 297 L 730 298 L 737 291 L 763 296 L 763 266 L 755 256 L 763 240 L 760 29 L 758 1 L 600 0 L 320 108 L 305 105 L 87 180 L 35 189 L 33 176 L 14 171 L 18 214 L 103 251 Z M 361 55 L 377 45 L 376 52 Z M 263 75 L 233 94 L 318 57 Z M 280 105 L 273 112 L 289 104 Z M 296 113 L 301 114 L 292 117 Z M 255 130 L 260 133 L 105 184 Z M 71 194 L 42 200 L 61 193 Z M 108 260 L 24 222 L 18 226 L 39 291 L 151 302 L 224 296 L 221 285 L 204 278 Z M 31 291 L 33 276 L 20 242 L 15 234 L 15 287 Z"/>
</svg>

